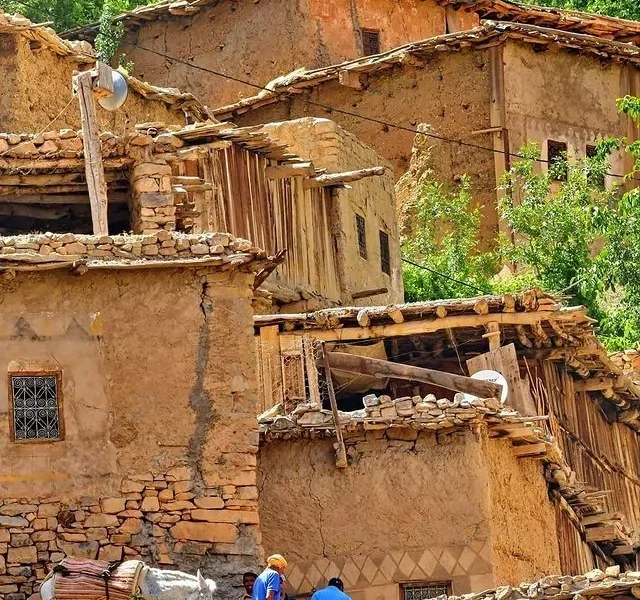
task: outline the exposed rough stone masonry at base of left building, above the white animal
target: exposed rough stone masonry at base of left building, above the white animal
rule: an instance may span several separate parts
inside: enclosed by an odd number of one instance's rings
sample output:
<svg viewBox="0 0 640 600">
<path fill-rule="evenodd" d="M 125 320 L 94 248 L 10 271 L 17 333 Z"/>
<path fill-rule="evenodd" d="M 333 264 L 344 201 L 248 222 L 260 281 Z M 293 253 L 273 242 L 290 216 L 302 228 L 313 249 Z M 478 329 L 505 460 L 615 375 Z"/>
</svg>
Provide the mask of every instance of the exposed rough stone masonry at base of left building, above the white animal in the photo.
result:
<svg viewBox="0 0 640 600">
<path fill-rule="evenodd" d="M 124 479 L 120 496 L 76 504 L 0 501 L 0 597 L 25 600 L 65 556 L 177 565 L 207 553 L 242 554 L 257 535 L 255 474 L 197 489 L 190 467 Z M 191 557 L 191 558 L 189 558 Z"/>
</svg>

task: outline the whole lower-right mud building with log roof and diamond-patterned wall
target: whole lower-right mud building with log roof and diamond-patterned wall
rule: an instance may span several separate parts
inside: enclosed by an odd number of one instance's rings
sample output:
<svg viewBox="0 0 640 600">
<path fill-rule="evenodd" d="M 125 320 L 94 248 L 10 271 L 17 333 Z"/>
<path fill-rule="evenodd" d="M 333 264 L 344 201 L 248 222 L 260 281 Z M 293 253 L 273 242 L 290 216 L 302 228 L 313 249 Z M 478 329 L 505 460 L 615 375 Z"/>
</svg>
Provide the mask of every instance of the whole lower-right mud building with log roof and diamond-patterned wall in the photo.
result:
<svg viewBox="0 0 640 600">
<path fill-rule="evenodd" d="M 338 574 L 391 600 L 634 569 L 640 394 L 592 323 L 536 290 L 256 316 L 261 528 L 292 593 Z M 504 404 L 448 391 L 483 369 Z"/>
</svg>

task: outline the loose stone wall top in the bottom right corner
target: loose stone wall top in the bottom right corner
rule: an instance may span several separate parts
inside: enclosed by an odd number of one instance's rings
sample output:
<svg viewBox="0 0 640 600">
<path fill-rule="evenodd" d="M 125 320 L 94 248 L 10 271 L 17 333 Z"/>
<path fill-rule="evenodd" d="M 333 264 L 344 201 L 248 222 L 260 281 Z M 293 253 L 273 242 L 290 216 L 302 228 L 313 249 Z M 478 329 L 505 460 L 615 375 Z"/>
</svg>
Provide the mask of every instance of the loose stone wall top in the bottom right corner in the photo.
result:
<svg viewBox="0 0 640 600">
<path fill-rule="evenodd" d="M 535 599 L 582 599 L 585 597 L 624 596 L 640 598 L 640 572 L 620 572 L 619 566 L 604 571 L 594 569 L 584 575 L 552 575 L 535 583 L 521 583 L 518 587 L 500 586 L 495 590 L 464 596 L 449 597 L 449 600 L 535 600 Z"/>
</svg>

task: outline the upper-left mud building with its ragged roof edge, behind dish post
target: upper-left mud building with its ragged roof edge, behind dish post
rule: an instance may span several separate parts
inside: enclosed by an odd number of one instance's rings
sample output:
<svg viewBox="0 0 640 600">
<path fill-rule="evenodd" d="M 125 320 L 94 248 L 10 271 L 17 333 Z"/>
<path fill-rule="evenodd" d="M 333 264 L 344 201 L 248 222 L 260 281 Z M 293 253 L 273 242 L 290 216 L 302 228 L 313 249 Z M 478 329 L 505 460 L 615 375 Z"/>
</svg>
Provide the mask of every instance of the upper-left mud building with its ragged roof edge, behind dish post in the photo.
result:
<svg viewBox="0 0 640 600">
<path fill-rule="evenodd" d="M 0 120 L 3 131 L 35 132 L 54 128 L 80 128 L 78 102 L 71 89 L 73 73 L 95 65 L 86 42 L 63 40 L 47 27 L 0 11 L 0 75 L 3 93 Z M 185 125 L 208 116 L 192 95 L 174 87 L 160 88 L 128 77 L 129 95 L 124 106 L 97 116 L 106 130 L 125 133 L 136 123 L 165 121 Z"/>
</svg>

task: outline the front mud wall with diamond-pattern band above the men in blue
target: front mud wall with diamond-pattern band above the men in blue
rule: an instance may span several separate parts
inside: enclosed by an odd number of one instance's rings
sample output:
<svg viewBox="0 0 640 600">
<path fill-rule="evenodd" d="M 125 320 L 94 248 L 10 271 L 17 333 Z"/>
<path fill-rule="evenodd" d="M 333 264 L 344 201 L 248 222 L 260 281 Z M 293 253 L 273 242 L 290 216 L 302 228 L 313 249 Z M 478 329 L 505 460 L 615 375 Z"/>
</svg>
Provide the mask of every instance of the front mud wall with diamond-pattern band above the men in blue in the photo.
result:
<svg viewBox="0 0 640 600">
<path fill-rule="evenodd" d="M 380 433 L 347 440 L 357 458 L 344 470 L 331 441 L 262 445 L 263 543 L 289 560 L 292 594 L 337 575 L 355 600 L 396 600 L 410 580 L 450 580 L 455 593 L 490 588 L 482 441 Z"/>
</svg>

